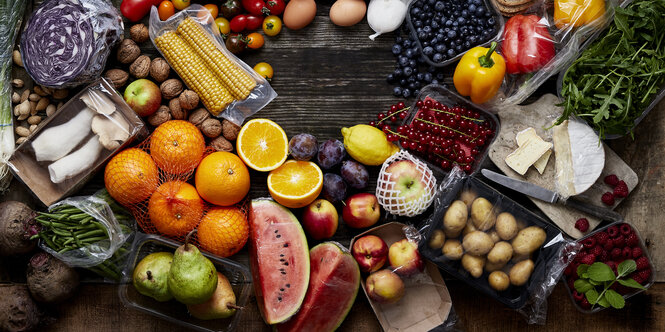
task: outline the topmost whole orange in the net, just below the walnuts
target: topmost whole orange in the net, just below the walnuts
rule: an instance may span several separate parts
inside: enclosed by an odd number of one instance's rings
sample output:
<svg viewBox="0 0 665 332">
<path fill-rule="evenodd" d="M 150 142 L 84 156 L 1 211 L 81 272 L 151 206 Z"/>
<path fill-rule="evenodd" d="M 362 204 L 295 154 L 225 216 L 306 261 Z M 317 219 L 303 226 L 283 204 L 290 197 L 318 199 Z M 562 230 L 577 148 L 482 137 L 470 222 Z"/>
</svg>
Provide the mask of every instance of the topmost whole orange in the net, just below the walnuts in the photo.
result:
<svg viewBox="0 0 665 332">
<path fill-rule="evenodd" d="M 193 124 L 172 120 L 161 124 L 150 137 L 150 155 L 169 174 L 191 172 L 203 158 L 205 139 Z"/>
</svg>

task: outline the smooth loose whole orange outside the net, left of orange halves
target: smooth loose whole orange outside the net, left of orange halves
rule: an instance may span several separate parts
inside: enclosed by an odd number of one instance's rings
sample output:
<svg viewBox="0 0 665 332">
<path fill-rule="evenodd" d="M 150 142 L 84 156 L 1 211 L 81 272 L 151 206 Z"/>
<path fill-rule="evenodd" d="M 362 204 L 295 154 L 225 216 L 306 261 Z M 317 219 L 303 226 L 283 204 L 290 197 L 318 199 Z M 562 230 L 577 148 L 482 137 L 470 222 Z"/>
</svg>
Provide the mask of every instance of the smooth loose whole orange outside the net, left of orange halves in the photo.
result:
<svg viewBox="0 0 665 332">
<path fill-rule="evenodd" d="M 203 158 L 194 183 L 206 201 L 222 206 L 240 202 L 249 192 L 249 170 L 230 152 L 214 152 Z"/>
</svg>

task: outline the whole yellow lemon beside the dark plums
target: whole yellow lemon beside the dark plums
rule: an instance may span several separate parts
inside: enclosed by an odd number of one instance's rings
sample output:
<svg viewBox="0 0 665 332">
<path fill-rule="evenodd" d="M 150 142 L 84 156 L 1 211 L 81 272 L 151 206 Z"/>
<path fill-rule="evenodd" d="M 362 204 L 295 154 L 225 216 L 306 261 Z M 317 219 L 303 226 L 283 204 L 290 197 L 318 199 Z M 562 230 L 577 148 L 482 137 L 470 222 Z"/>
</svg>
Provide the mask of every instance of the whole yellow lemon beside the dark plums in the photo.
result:
<svg viewBox="0 0 665 332">
<path fill-rule="evenodd" d="M 399 151 L 395 144 L 388 142 L 386 134 L 369 125 L 342 128 L 342 136 L 346 152 L 361 164 L 381 165 Z"/>
</svg>

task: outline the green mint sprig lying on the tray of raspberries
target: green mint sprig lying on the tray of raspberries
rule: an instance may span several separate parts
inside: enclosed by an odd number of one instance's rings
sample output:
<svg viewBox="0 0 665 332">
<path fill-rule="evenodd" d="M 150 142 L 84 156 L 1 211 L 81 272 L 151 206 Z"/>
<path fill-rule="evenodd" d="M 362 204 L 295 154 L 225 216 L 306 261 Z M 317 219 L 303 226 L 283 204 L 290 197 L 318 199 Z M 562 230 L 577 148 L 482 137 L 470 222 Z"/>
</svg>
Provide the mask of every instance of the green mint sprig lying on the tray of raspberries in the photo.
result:
<svg viewBox="0 0 665 332">
<path fill-rule="evenodd" d="M 624 279 L 625 276 L 635 270 L 637 270 L 637 264 L 632 259 L 627 259 L 617 266 L 617 275 L 614 274 L 609 265 L 602 262 L 595 262 L 591 265 L 581 264 L 577 267 L 577 275 L 580 278 L 575 280 L 575 290 L 580 294 L 584 294 L 587 301 L 591 303 L 592 309 L 596 305 L 604 308 L 621 309 L 626 305 L 626 301 L 621 294 L 610 289 L 610 287 L 618 282 L 626 287 L 645 289 L 644 286 L 632 278 Z M 598 293 L 598 287 L 602 288 L 600 293 Z"/>
</svg>

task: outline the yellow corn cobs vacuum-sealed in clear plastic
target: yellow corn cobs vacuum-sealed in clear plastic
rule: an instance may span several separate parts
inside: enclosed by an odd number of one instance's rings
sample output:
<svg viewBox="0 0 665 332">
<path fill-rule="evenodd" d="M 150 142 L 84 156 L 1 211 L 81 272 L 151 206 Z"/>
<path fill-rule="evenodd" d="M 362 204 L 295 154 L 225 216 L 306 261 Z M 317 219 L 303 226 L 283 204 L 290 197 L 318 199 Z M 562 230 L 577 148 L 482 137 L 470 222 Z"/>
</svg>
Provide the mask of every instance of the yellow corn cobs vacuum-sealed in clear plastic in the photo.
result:
<svg viewBox="0 0 665 332">
<path fill-rule="evenodd" d="M 166 21 L 153 7 L 150 39 L 214 115 L 242 125 L 277 97 L 264 77 L 226 49 L 210 12 L 201 5 L 189 6 Z M 180 61 L 185 58 L 188 61 Z"/>
</svg>

